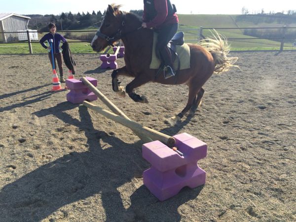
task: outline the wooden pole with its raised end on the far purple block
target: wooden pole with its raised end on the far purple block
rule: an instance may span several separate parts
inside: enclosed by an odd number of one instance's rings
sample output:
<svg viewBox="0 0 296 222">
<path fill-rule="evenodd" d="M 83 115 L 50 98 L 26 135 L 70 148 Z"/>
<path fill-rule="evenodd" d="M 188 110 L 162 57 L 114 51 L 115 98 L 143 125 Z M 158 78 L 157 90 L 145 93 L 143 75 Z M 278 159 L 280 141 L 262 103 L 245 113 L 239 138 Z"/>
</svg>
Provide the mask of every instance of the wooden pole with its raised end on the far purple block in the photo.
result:
<svg viewBox="0 0 296 222">
<path fill-rule="evenodd" d="M 95 95 L 98 96 L 99 99 L 104 102 L 111 111 L 119 116 L 122 116 L 123 118 L 130 120 L 117 106 L 115 106 L 99 89 L 97 89 L 94 85 L 91 84 L 85 77 L 81 78 L 81 81 L 87 86 L 88 89 L 90 89 Z M 146 143 L 153 141 L 149 136 L 143 135 L 139 132 L 134 132 L 136 135 L 140 137 L 140 139 Z"/>
</svg>

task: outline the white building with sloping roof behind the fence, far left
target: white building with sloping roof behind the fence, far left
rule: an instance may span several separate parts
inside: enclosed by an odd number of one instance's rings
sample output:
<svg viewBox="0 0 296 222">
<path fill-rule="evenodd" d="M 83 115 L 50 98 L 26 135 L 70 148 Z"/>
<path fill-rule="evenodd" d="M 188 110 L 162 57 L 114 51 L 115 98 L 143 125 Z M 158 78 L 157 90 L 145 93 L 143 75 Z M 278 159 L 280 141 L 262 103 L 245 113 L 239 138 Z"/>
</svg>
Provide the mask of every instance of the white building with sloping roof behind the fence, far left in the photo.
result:
<svg viewBox="0 0 296 222">
<path fill-rule="evenodd" d="M 9 43 L 19 40 L 27 40 L 27 34 L 18 33 L 2 33 L 2 32 L 18 32 L 26 31 L 30 17 L 17 15 L 14 13 L 0 13 L 0 42 Z M 19 39 L 21 35 L 21 39 Z M 24 38 L 23 35 L 26 37 Z"/>
</svg>

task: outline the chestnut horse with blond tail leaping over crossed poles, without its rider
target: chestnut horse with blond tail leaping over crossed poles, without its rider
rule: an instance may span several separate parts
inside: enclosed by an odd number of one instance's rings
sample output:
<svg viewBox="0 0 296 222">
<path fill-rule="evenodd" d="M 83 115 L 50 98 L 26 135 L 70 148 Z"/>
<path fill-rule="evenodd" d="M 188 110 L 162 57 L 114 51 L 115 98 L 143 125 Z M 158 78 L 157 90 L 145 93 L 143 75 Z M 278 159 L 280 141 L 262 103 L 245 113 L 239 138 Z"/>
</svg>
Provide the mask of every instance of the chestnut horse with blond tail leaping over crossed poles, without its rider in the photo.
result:
<svg viewBox="0 0 296 222">
<path fill-rule="evenodd" d="M 100 52 L 115 41 L 122 40 L 125 46 L 125 66 L 113 70 L 111 74 L 112 89 L 122 92 L 118 76 L 129 76 L 134 79 L 127 84 L 125 91 L 135 102 L 148 102 L 145 96 L 135 93 L 134 89 L 148 82 L 165 85 L 185 84 L 189 88 L 185 108 L 176 116 L 169 118 L 171 124 L 181 122 L 187 111 L 194 113 L 201 103 L 204 94 L 202 86 L 213 73 L 228 71 L 235 66 L 237 57 L 227 57 L 229 45 L 226 39 L 216 32 L 213 38 L 205 39 L 198 44 L 188 44 L 190 48 L 190 68 L 179 70 L 177 75 L 165 79 L 158 75 L 157 69 L 150 69 L 152 55 L 153 30 L 142 28 L 142 19 L 130 12 L 120 11 L 121 5 L 108 5 L 105 17 L 94 36 L 91 47 Z"/>
</svg>

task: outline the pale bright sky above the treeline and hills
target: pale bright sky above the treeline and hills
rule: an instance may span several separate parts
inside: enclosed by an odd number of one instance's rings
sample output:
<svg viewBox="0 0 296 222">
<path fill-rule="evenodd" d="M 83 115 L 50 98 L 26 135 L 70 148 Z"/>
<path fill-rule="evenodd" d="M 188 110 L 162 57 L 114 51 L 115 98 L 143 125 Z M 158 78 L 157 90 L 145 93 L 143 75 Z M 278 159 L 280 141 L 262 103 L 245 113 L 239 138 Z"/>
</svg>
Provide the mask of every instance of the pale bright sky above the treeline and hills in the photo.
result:
<svg viewBox="0 0 296 222">
<path fill-rule="evenodd" d="M 30 3 L 28 3 L 30 2 Z M 50 3 L 48 3 L 50 2 Z M 269 12 L 296 11 L 296 4 L 291 0 L 171 0 L 176 5 L 179 14 L 242 14 L 242 8 L 248 9 L 249 13 L 259 13 L 263 9 Z M 54 14 L 62 12 L 77 13 L 87 11 L 92 13 L 107 9 L 108 4 L 121 4 L 121 10 L 130 11 L 143 9 L 143 0 L 6 0 L 1 4 L 0 13 L 16 14 Z"/>
</svg>

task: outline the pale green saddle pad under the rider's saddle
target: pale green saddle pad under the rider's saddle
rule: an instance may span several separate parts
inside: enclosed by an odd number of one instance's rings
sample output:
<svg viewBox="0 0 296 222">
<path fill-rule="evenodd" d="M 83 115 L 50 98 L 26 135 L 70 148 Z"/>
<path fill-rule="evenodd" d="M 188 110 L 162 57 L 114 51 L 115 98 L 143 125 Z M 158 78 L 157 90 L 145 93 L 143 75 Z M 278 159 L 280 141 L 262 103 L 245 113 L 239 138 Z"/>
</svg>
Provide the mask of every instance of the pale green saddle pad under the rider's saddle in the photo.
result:
<svg viewBox="0 0 296 222">
<path fill-rule="evenodd" d="M 157 33 L 154 32 L 153 36 L 153 50 L 152 50 L 152 58 L 149 68 L 150 69 L 158 69 L 160 66 L 160 60 L 156 57 L 155 46 L 157 41 Z M 190 48 L 187 44 L 176 45 L 177 54 L 180 58 L 180 70 L 189 69 L 190 68 Z M 176 58 L 174 61 L 174 69 L 178 68 L 178 59 Z"/>
</svg>

